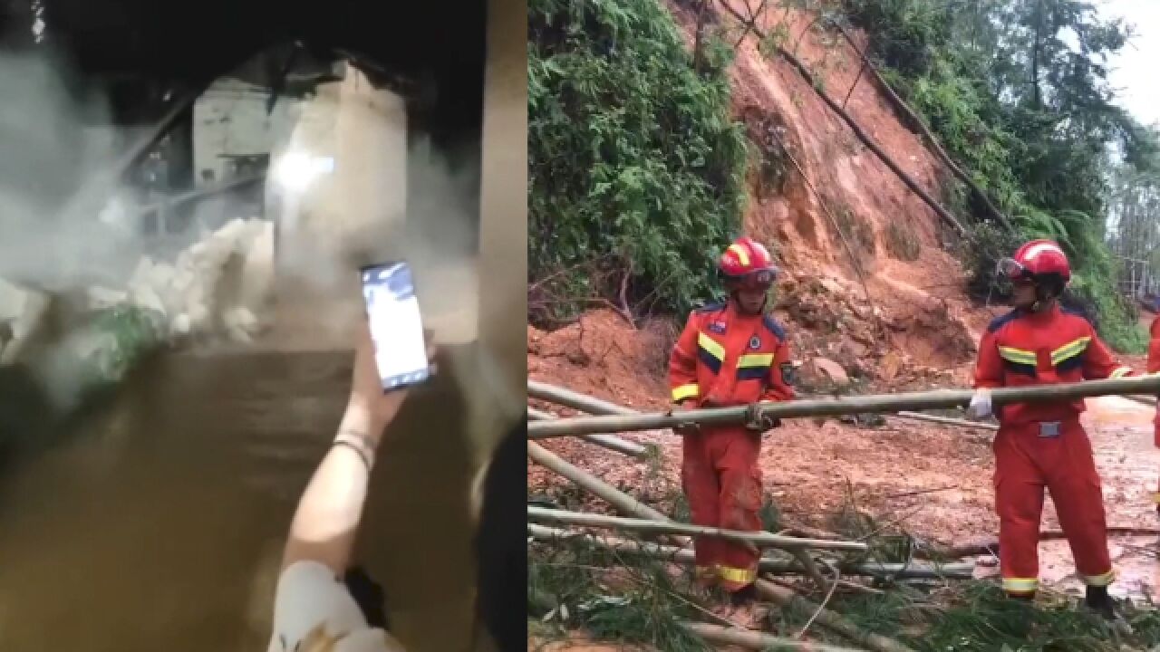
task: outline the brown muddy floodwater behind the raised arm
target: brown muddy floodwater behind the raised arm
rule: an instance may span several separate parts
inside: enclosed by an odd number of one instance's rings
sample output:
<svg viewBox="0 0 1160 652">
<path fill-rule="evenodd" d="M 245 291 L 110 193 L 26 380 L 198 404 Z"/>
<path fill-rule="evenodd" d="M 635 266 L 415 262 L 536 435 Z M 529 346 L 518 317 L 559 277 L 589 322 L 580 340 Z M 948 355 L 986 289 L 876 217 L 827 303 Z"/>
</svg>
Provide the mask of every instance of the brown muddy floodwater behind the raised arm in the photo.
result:
<svg viewBox="0 0 1160 652">
<path fill-rule="evenodd" d="M 264 650 L 293 507 L 351 355 L 171 354 L 0 480 L 0 650 Z M 473 600 L 461 397 L 412 396 L 358 560 L 412 650 L 465 650 Z"/>
</svg>

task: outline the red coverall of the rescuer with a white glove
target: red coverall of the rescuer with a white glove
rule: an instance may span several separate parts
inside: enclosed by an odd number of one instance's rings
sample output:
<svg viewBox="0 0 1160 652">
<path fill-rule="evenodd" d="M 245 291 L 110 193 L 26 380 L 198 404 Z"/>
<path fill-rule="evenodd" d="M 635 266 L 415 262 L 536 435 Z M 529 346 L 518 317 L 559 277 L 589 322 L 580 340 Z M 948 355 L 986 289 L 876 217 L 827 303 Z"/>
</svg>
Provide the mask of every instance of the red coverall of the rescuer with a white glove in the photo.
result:
<svg viewBox="0 0 1160 652">
<path fill-rule="evenodd" d="M 976 387 L 1073 383 L 1133 375 L 1122 367 L 1082 316 L 1053 305 L 1015 310 L 991 323 L 979 343 Z M 1059 514 L 1080 578 L 1088 586 L 1115 579 L 1108 557 L 1103 493 L 1092 442 L 1080 426 L 1083 400 L 1013 404 L 999 408 L 995 436 L 995 510 L 1003 589 L 1038 588 L 1043 490 Z"/>
</svg>

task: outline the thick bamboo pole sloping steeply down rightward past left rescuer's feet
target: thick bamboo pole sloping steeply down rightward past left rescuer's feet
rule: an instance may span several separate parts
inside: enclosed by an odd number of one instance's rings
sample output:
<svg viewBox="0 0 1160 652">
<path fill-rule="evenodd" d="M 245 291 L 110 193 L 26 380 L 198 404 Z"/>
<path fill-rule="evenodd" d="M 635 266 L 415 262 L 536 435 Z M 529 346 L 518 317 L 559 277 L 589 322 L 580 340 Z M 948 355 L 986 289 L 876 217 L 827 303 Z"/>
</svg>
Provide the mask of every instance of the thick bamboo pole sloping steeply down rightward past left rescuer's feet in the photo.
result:
<svg viewBox="0 0 1160 652">
<path fill-rule="evenodd" d="M 669 519 L 660 512 L 616 490 L 608 483 L 604 483 L 592 474 L 577 469 L 572 464 L 564 462 L 559 458 L 559 456 L 552 454 L 535 442 L 528 442 L 528 456 L 531 457 L 534 462 L 552 469 L 577 485 L 587 488 L 595 495 L 604 499 L 610 505 L 616 507 L 622 514 L 632 514 L 633 516 L 652 519 L 654 521 L 669 521 Z M 682 539 L 677 541 L 681 542 Z M 762 579 L 754 582 L 754 586 L 760 595 L 782 607 L 802 609 L 805 613 L 817 611 L 817 620 L 822 626 L 827 626 L 855 643 L 865 645 L 875 652 L 912 652 L 909 647 L 898 643 L 897 640 L 868 632 L 842 616 L 824 607 L 819 607 L 805 597 L 802 597 L 792 589 Z"/>
</svg>

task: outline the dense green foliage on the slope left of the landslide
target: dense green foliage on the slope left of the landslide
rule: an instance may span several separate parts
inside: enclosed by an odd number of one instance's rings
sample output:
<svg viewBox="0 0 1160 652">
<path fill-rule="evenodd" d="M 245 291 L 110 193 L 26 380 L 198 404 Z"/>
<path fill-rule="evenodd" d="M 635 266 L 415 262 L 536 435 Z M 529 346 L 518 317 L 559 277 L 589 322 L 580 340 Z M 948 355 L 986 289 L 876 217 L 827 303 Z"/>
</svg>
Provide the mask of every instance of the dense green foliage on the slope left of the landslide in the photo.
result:
<svg viewBox="0 0 1160 652">
<path fill-rule="evenodd" d="M 622 285 L 668 310 L 706 298 L 745 197 L 728 49 L 706 41 L 695 70 L 660 0 L 531 0 L 528 21 L 530 317 Z"/>
</svg>

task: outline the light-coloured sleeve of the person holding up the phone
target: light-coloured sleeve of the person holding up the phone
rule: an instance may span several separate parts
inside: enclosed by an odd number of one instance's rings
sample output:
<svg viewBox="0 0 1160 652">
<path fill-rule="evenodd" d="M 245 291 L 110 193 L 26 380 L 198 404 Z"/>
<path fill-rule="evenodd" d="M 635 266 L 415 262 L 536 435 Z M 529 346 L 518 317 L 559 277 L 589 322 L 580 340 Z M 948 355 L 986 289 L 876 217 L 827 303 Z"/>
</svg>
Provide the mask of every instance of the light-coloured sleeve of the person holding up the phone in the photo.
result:
<svg viewBox="0 0 1160 652">
<path fill-rule="evenodd" d="M 318 562 L 295 562 L 278 578 L 268 652 L 297 652 L 302 640 L 320 623 L 334 638 L 370 630 L 346 585 L 328 567 Z M 382 640 L 382 633 L 378 636 Z"/>
</svg>

